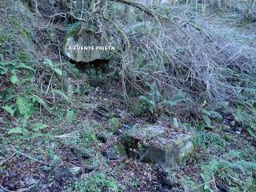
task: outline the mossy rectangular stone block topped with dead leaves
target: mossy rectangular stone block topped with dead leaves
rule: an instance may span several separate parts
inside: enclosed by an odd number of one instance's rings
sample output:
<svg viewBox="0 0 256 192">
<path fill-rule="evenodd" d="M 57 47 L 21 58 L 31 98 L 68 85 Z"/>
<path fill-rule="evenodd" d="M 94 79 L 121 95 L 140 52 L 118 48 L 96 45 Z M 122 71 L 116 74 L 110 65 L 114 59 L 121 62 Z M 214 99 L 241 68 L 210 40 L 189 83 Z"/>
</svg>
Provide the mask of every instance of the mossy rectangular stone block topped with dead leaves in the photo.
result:
<svg viewBox="0 0 256 192">
<path fill-rule="evenodd" d="M 164 126 L 130 130 L 124 136 L 127 154 L 135 153 L 143 162 L 178 168 L 193 153 L 193 135 L 171 132 Z"/>
</svg>

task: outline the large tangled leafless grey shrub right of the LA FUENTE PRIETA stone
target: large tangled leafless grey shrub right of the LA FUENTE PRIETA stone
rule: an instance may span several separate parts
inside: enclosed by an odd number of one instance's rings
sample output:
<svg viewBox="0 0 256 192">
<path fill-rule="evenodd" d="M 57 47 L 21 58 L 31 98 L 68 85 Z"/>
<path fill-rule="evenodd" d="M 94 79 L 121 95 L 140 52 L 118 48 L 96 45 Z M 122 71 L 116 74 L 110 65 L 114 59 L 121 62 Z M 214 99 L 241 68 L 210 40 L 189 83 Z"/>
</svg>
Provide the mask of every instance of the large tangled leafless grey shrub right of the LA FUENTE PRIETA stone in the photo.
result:
<svg viewBox="0 0 256 192">
<path fill-rule="evenodd" d="M 117 14 L 113 8 L 116 3 L 134 10 L 128 15 Z M 89 11 L 80 5 L 64 14 L 82 22 L 82 30 L 94 26 L 102 41 L 117 46 L 125 93 L 127 82 L 144 91 L 143 82 L 155 81 L 167 96 L 182 90 L 191 98 L 233 100 L 246 84 L 241 74 L 254 71 L 255 58 L 238 46 L 206 34 L 207 29 L 195 26 L 184 15 L 168 18 L 126 0 L 102 0 L 90 7 L 94 9 Z M 129 17 L 137 21 L 130 22 Z M 138 22 L 138 18 L 143 20 Z"/>
</svg>

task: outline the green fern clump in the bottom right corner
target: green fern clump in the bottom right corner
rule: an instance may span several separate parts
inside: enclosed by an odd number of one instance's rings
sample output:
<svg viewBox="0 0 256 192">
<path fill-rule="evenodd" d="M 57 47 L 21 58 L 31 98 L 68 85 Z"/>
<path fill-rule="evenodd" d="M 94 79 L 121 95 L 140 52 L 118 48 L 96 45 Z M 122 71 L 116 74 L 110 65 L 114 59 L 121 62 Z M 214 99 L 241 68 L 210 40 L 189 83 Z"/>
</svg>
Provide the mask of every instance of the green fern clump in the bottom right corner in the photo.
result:
<svg viewBox="0 0 256 192">
<path fill-rule="evenodd" d="M 214 177 L 218 177 L 222 178 L 222 182 L 224 182 L 228 188 L 235 186 L 235 190 L 251 191 L 248 189 L 255 187 L 255 180 L 254 183 L 242 182 L 242 180 L 245 178 L 249 179 L 249 181 L 253 179 L 255 170 L 255 161 L 244 160 L 242 151 L 230 150 L 226 154 L 222 154 L 220 158 L 214 158 L 202 166 L 201 176 L 205 182 L 204 190 L 214 191 L 210 183 L 214 181 Z M 234 176 L 232 177 L 230 175 L 235 175 L 235 179 Z"/>
</svg>

